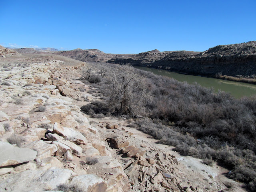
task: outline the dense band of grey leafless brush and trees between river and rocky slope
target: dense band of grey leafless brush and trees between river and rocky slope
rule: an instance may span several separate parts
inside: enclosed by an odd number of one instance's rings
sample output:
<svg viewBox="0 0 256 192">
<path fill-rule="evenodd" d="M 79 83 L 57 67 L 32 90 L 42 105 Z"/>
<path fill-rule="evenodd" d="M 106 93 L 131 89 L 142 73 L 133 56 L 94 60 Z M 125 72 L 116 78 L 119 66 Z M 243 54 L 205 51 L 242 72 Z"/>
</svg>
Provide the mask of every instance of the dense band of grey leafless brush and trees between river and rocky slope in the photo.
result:
<svg viewBox="0 0 256 192">
<path fill-rule="evenodd" d="M 235 99 L 127 65 L 108 64 L 103 77 L 102 65 L 90 70 L 103 96 L 84 112 L 136 118 L 133 126 L 160 143 L 209 165 L 217 161 L 231 170 L 230 178 L 256 191 L 256 96 Z"/>
</svg>

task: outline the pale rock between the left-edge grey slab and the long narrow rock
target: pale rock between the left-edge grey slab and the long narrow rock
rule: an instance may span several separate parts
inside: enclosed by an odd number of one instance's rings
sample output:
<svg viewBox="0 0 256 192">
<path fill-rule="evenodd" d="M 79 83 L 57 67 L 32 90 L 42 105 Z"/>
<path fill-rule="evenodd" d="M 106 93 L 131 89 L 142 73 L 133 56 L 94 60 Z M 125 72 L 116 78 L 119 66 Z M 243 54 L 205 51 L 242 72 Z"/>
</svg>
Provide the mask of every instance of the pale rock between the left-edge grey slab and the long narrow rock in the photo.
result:
<svg viewBox="0 0 256 192">
<path fill-rule="evenodd" d="M 52 156 L 58 149 L 56 145 L 48 144 L 42 140 L 30 142 L 22 147 L 36 150 L 38 152 L 36 157 L 41 159 Z"/>
</svg>

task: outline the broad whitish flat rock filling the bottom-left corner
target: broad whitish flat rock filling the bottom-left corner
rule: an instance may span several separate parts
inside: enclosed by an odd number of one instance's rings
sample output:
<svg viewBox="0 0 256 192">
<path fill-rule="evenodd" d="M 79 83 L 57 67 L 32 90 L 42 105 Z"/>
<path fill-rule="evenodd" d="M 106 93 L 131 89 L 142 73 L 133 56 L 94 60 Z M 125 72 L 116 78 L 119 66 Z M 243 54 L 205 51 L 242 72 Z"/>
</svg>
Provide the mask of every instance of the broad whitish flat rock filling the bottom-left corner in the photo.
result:
<svg viewBox="0 0 256 192">
<path fill-rule="evenodd" d="M 68 169 L 26 170 L 7 176 L 0 181 L 0 190 L 8 188 L 11 192 L 54 189 L 59 184 L 68 182 L 75 173 Z M 6 182 L 8 181 L 8 182 Z"/>
</svg>

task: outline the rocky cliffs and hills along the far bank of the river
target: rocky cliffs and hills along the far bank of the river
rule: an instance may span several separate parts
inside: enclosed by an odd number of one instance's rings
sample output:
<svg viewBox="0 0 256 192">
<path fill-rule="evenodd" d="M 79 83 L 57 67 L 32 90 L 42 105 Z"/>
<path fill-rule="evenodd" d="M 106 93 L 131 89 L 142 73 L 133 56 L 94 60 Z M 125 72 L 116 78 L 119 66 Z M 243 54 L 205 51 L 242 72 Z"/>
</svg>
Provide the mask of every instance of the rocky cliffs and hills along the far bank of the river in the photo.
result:
<svg viewBox="0 0 256 192">
<path fill-rule="evenodd" d="M 130 63 L 197 74 L 215 76 L 254 76 L 256 74 L 256 41 L 219 45 L 204 52 L 152 50 L 139 54 L 105 54 L 99 50 L 72 50 L 54 52 L 81 61 Z"/>
</svg>

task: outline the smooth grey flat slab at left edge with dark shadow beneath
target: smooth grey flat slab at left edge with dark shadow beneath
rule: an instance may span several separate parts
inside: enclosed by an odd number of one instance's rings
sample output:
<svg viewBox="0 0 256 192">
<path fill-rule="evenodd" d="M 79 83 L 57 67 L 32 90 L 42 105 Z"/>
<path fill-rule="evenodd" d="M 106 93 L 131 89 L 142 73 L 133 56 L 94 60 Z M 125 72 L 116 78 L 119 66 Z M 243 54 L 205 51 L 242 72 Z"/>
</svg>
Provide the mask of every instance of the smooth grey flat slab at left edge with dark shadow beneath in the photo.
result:
<svg viewBox="0 0 256 192">
<path fill-rule="evenodd" d="M 16 165 L 36 158 L 37 152 L 27 148 L 14 147 L 0 141 L 0 167 Z"/>
</svg>

